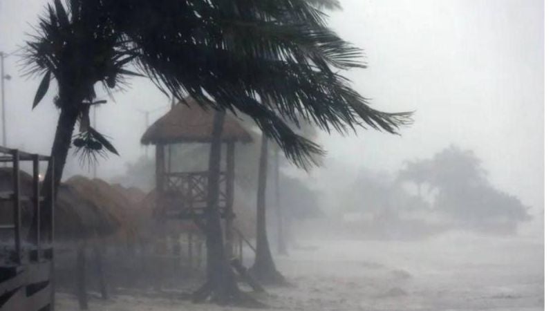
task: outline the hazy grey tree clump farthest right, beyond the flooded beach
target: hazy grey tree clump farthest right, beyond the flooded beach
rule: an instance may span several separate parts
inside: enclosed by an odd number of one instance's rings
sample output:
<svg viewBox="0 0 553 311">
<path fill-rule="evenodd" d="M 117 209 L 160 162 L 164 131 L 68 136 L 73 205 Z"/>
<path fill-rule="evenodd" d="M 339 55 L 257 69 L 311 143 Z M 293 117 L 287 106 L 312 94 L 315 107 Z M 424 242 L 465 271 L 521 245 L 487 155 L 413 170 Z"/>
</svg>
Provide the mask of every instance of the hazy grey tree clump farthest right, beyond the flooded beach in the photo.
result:
<svg viewBox="0 0 553 311">
<path fill-rule="evenodd" d="M 521 200 L 490 185 L 480 159 L 471 150 L 452 145 L 429 160 L 411 163 L 400 176 L 414 182 L 424 180 L 437 189 L 433 209 L 454 225 L 513 233 L 518 223 L 530 219 Z"/>
</svg>

